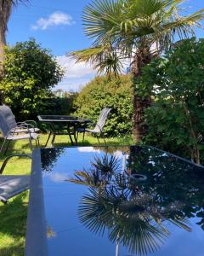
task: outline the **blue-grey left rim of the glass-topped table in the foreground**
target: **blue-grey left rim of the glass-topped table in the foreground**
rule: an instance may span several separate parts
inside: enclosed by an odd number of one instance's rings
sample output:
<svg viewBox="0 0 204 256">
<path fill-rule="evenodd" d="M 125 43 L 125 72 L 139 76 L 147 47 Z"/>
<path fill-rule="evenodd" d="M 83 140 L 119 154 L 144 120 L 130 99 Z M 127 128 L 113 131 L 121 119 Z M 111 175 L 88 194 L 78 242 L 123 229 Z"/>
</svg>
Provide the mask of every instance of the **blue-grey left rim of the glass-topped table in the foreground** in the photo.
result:
<svg viewBox="0 0 204 256">
<path fill-rule="evenodd" d="M 48 255 L 41 170 L 41 150 L 34 149 L 32 152 L 30 196 L 27 215 L 26 256 Z"/>
</svg>

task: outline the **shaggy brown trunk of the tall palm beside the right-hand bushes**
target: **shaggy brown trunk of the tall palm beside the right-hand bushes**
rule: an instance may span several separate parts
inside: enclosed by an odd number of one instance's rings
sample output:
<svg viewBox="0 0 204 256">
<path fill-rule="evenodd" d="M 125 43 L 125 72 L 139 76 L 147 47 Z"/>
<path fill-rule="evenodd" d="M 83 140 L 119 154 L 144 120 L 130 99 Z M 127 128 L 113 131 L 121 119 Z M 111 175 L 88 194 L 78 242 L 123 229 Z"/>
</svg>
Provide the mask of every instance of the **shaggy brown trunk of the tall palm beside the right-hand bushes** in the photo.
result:
<svg viewBox="0 0 204 256">
<path fill-rule="evenodd" d="M 142 75 L 142 67 L 150 63 L 152 55 L 150 48 L 139 49 L 134 56 L 133 61 L 133 79 L 134 81 Z M 135 84 L 134 84 L 135 85 Z M 133 138 L 135 142 L 144 137 L 147 132 L 147 126 L 144 125 L 144 110 L 150 107 L 151 98 L 139 96 L 138 89 L 133 88 Z"/>
</svg>

